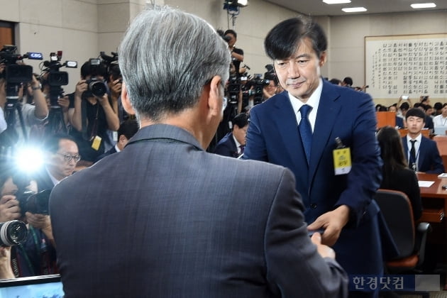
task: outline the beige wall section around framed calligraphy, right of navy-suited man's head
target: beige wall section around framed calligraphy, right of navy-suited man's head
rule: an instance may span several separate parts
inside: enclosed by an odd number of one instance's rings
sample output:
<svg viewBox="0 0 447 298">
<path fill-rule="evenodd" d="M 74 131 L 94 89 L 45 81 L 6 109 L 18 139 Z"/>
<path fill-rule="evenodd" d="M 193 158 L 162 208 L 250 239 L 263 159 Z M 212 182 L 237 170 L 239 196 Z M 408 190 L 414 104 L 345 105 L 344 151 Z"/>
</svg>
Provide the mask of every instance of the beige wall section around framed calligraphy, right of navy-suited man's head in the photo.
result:
<svg viewBox="0 0 447 298">
<path fill-rule="evenodd" d="M 365 82 L 365 36 L 447 33 L 447 11 L 326 17 L 330 26 L 328 77 L 350 76 L 354 86 Z M 390 106 L 398 99 L 375 99 Z M 413 103 L 419 99 L 413 99 Z M 447 102 L 447 98 L 431 99 Z"/>
</svg>

